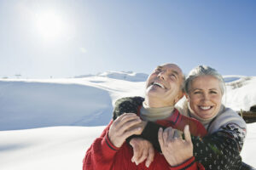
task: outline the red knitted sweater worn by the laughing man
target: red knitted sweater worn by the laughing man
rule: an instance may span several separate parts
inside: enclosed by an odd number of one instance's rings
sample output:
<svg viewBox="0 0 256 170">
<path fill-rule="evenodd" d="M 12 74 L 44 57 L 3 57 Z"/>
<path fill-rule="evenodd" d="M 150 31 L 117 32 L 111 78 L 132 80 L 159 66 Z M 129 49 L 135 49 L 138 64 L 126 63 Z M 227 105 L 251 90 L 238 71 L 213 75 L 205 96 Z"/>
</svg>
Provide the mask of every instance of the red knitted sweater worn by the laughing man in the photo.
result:
<svg viewBox="0 0 256 170">
<path fill-rule="evenodd" d="M 175 123 L 173 123 L 173 121 Z M 205 169 L 200 163 L 195 162 L 195 157 L 193 156 L 188 161 L 185 161 L 178 167 L 171 167 L 166 158 L 157 150 L 154 151 L 154 161 L 150 164 L 149 167 L 145 166 L 145 161 L 136 165 L 135 163 L 131 162 L 131 157 L 133 156 L 133 150 L 129 144 L 126 142 L 120 147 L 115 147 L 110 140 L 108 139 L 108 130 L 111 126 L 113 121 L 108 124 L 108 127 L 104 129 L 102 135 L 97 138 L 93 144 L 90 145 L 90 148 L 87 150 L 86 155 L 83 161 L 83 170 L 143 170 L 143 169 L 161 169 L 161 170 L 178 170 L 178 169 L 186 169 L 186 170 L 203 170 Z M 172 123 L 169 123 L 172 122 Z M 189 122 L 189 123 L 188 123 Z M 176 110 L 172 116 L 166 118 L 164 121 L 158 121 L 157 123 L 168 126 L 174 127 L 178 130 L 183 131 L 183 127 L 186 124 L 189 124 L 190 129 L 195 128 L 198 129 L 205 129 L 201 123 L 198 124 L 198 121 L 195 119 L 190 119 L 189 117 L 182 116 Z M 177 126 L 178 125 L 178 126 Z M 191 127 L 191 125 L 193 127 Z M 198 127 L 199 126 L 199 127 Z M 200 133 L 195 130 L 190 130 L 193 135 L 205 135 L 205 132 L 201 130 Z M 195 133 L 195 132 L 196 133 Z"/>
</svg>

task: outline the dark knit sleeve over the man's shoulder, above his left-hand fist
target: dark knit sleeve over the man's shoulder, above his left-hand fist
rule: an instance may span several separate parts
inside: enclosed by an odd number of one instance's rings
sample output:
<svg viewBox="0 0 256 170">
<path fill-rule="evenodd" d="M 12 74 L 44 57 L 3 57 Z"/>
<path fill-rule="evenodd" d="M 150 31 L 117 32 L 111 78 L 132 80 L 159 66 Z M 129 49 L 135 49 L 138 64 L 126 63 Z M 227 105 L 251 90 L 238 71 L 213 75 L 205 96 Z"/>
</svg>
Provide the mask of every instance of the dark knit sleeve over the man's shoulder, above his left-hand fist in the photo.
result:
<svg viewBox="0 0 256 170">
<path fill-rule="evenodd" d="M 140 96 L 125 97 L 116 100 L 113 109 L 113 120 L 124 113 L 137 114 L 137 108 L 143 105 L 144 98 Z"/>
</svg>

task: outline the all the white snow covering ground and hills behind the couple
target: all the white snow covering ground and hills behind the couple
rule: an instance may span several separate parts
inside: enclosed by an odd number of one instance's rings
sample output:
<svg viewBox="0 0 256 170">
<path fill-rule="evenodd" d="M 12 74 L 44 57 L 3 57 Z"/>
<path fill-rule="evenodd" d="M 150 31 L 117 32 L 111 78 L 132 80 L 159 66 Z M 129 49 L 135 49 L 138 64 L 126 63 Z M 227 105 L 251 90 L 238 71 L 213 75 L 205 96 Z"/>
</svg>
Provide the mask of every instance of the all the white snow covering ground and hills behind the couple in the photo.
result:
<svg viewBox="0 0 256 170">
<path fill-rule="evenodd" d="M 81 169 L 85 151 L 112 117 L 115 100 L 143 96 L 144 76 L 112 71 L 0 80 L 0 169 Z M 230 76 L 225 81 L 225 105 L 236 111 L 256 105 L 256 77 Z M 256 123 L 247 129 L 241 156 L 256 167 Z"/>
</svg>

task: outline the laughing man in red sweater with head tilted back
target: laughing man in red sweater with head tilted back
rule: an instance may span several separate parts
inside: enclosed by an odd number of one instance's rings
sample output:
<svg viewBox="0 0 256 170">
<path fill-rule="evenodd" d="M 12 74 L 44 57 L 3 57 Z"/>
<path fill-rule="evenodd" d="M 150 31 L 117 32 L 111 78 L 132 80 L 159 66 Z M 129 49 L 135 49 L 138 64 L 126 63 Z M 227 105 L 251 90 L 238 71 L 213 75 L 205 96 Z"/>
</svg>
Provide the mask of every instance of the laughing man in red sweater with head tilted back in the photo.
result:
<svg viewBox="0 0 256 170">
<path fill-rule="evenodd" d="M 183 79 L 183 73 L 177 65 L 158 66 L 148 77 L 145 101 L 136 111 L 138 116 L 131 111 L 114 117 L 115 120 L 108 124 L 101 137 L 97 138 L 87 150 L 83 169 L 183 169 L 188 167 L 189 169 L 203 169 L 201 164 L 195 163 L 189 128 L 184 129 L 184 126 L 186 122 L 189 122 L 190 132 L 194 135 L 205 135 L 206 130 L 200 122 L 195 119 L 189 120 L 174 109 L 174 105 L 183 97 Z M 137 103 L 143 101 L 140 98 L 137 99 L 135 100 Z M 125 105 L 125 108 L 129 110 L 130 106 L 133 105 Z M 162 133 L 162 142 L 167 146 L 176 146 L 175 150 L 183 150 L 183 152 L 175 152 L 176 154 L 172 156 L 165 155 L 165 150 L 168 150 L 166 147 L 161 148 L 163 154 L 160 152 L 154 154 L 150 143 L 144 143 L 148 144 L 147 162 L 138 164 L 137 160 L 131 160 L 133 150 L 125 139 L 134 134 L 142 134 L 144 127 L 148 127 L 150 123 L 143 122 L 141 118 L 160 125 L 173 122 L 172 127 L 184 131 L 185 139 L 180 139 L 180 143 L 175 145 L 172 140 L 177 135 L 165 132 Z M 191 128 L 191 125 L 197 129 Z M 131 141 L 131 145 L 133 143 Z"/>
</svg>

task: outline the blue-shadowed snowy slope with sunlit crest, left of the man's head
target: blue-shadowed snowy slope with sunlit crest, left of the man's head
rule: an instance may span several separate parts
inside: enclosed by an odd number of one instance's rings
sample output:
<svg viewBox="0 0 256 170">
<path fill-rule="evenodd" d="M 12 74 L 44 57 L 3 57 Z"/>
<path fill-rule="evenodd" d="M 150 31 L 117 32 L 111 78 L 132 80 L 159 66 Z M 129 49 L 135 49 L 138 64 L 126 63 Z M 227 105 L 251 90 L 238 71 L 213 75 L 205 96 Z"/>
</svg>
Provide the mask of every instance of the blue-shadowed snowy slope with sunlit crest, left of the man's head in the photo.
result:
<svg viewBox="0 0 256 170">
<path fill-rule="evenodd" d="M 107 77 L 0 81 L 0 130 L 106 125 L 115 99 L 143 95 L 143 86 Z"/>
</svg>

